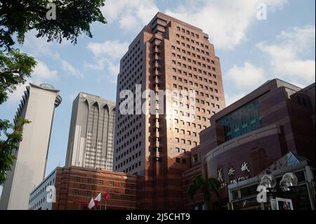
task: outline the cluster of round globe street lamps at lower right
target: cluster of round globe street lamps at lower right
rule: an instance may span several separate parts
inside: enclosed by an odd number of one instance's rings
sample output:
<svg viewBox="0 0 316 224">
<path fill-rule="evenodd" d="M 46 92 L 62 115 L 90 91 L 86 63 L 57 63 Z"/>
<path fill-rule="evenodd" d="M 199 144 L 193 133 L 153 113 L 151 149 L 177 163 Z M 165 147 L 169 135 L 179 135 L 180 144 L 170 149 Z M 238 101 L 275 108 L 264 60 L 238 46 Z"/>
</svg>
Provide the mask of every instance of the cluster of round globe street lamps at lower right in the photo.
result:
<svg viewBox="0 0 316 224">
<path fill-rule="evenodd" d="M 282 190 L 282 192 L 292 192 L 297 186 L 297 183 L 298 179 L 294 173 L 285 173 L 282 177 L 282 180 L 280 180 L 279 182 L 279 188 Z M 259 185 L 265 187 L 270 201 L 270 199 L 272 199 L 272 196 L 274 195 L 274 190 L 277 190 L 277 181 L 275 180 L 275 177 L 271 174 L 265 174 L 261 178 L 261 182 Z M 261 209 L 265 210 L 263 201 L 261 201 Z"/>
</svg>

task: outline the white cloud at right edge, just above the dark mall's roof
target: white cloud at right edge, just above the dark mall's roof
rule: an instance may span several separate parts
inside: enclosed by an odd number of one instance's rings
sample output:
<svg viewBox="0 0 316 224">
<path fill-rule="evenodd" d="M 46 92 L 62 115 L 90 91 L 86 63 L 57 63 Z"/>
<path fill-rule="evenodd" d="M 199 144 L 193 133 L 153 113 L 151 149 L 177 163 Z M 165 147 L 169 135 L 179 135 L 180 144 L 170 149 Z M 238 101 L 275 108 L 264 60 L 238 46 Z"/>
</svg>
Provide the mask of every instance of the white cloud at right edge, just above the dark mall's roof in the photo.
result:
<svg viewBox="0 0 316 224">
<path fill-rule="evenodd" d="M 280 78 L 299 86 L 315 81 L 315 26 L 283 31 L 275 43 L 263 41 L 258 48 L 267 53 L 273 72 Z M 313 55 L 308 57 L 309 53 Z"/>
</svg>

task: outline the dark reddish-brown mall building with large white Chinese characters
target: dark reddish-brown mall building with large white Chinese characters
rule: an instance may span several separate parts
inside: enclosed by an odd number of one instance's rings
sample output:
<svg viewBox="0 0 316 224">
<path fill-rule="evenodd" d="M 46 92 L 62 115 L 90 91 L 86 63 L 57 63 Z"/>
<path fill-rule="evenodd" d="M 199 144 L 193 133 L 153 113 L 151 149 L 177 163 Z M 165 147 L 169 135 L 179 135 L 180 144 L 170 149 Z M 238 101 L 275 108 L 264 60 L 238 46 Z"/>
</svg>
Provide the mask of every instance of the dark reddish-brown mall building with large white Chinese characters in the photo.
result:
<svg viewBox="0 0 316 224">
<path fill-rule="evenodd" d="M 314 95 L 312 94 L 312 89 Z M 261 115 L 261 128 L 225 140 L 223 126 L 218 124 L 223 117 L 244 107 L 247 103 L 258 100 L 258 111 Z M 211 127 L 200 134 L 200 146 L 192 150 L 192 158 L 201 158 L 201 169 L 193 166 L 183 173 L 184 183 L 198 174 L 207 178 L 218 178 L 222 173 L 223 208 L 228 203 L 227 185 L 242 178 L 257 176 L 277 159 L 293 152 L 315 162 L 315 84 L 301 89 L 279 79 L 268 81 L 211 117 Z M 246 163 L 242 169 L 242 165 Z M 235 172 L 229 175 L 229 170 Z M 192 181 L 191 181 L 192 183 Z M 183 186 L 187 190 L 187 185 Z M 195 205 L 184 197 L 187 209 L 199 206 L 202 209 L 203 199 L 197 195 Z M 215 195 L 211 198 L 210 208 L 218 206 Z"/>
</svg>

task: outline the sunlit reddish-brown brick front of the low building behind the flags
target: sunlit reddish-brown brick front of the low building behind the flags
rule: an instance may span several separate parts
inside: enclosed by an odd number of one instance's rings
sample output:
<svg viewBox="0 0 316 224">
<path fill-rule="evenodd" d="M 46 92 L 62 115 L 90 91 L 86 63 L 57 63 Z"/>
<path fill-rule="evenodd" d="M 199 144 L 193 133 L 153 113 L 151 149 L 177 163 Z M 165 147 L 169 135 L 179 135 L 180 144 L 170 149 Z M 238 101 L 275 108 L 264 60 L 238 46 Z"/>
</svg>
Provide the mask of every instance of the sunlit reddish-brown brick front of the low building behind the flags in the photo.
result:
<svg viewBox="0 0 316 224">
<path fill-rule="evenodd" d="M 55 178 L 56 202 L 53 210 L 84 210 L 99 192 L 107 199 L 107 210 L 136 209 L 137 178 L 125 173 L 81 167 L 58 167 Z M 100 209 L 100 206 L 95 209 Z M 101 201 L 105 209 L 105 199 Z"/>
</svg>

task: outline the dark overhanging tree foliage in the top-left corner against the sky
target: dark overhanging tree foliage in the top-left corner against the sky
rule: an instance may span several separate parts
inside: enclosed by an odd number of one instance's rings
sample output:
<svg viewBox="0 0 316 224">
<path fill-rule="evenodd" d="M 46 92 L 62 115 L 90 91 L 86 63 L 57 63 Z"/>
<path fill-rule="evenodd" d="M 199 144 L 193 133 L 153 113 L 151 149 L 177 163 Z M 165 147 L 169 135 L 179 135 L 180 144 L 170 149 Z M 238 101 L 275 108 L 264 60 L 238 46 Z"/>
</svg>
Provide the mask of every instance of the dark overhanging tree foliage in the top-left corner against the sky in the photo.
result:
<svg viewBox="0 0 316 224">
<path fill-rule="evenodd" d="M 48 20 L 48 3 L 56 6 L 56 19 Z M 105 0 L 1 0 L 0 1 L 0 47 L 10 49 L 16 38 L 23 44 L 25 34 L 37 30 L 37 37 L 48 41 L 70 40 L 77 44 L 77 37 L 86 34 L 93 37 L 92 22 L 106 23 L 100 10 Z"/>
</svg>

